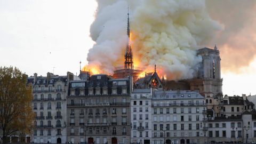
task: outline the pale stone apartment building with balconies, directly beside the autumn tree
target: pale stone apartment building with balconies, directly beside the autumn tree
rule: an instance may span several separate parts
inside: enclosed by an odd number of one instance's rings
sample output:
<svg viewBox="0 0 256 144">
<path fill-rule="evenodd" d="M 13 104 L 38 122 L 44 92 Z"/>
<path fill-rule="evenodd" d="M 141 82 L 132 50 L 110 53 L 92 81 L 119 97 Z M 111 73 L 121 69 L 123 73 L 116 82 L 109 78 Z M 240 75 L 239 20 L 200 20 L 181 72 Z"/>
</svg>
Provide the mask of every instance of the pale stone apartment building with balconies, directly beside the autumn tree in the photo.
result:
<svg viewBox="0 0 256 144">
<path fill-rule="evenodd" d="M 34 143 L 66 143 L 67 122 L 67 88 L 68 81 L 74 75 L 58 76 L 47 73 L 46 77 L 28 77 L 33 85 L 32 101 L 35 113 L 34 130 L 31 142 Z"/>
</svg>

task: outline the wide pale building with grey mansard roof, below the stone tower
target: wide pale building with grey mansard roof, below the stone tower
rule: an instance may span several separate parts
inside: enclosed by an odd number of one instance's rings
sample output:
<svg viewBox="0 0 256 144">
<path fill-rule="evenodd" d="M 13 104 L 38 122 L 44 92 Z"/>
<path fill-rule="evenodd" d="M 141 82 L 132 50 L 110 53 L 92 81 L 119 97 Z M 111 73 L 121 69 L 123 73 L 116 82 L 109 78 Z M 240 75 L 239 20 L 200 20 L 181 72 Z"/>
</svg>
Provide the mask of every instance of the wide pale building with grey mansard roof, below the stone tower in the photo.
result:
<svg viewBox="0 0 256 144">
<path fill-rule="evenodd" d="M 205 98 L 197 92 L 154 90 L 153 143 L 206 142 L 206 114 Z"/>
</svg>

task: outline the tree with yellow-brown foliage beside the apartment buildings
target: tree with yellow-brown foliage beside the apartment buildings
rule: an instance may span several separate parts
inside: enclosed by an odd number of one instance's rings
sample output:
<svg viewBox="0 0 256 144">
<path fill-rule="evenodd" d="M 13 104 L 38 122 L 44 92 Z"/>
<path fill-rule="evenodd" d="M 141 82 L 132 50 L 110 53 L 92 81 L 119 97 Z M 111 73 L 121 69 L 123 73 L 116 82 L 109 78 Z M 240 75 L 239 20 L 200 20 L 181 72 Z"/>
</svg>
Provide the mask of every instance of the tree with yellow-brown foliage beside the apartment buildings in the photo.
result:
<svg viewBox="0 0 256 144">
<path fill-rule="evenodd" d="M 0 137 L 3 143 L 9 142 L 11 135 L 31 133 L 32 99 L 27 75 L 18 68 L 0 67 Z"/>
</svg>

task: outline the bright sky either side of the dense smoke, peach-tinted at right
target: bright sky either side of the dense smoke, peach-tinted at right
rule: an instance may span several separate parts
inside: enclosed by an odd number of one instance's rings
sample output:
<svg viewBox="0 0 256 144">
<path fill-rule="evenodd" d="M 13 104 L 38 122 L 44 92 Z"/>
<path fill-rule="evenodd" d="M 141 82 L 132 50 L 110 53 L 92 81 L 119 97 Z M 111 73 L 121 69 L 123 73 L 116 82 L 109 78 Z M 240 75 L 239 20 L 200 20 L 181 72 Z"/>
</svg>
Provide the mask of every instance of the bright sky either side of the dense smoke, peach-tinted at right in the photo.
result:
<svg viewBox="0 0 256 144">
<path fill-rule="evenodd" d="M 222 30 L 209 44 L 221 54 L 223 94 L 256 94 L 255 1 L 206 1 Z M 94 42 L 90 25 L 97 3 L 88 1 L 0 0 L 0 66 L 27 75 L 79 73 Z M 254 80 L 254 81 L 253 81 Z"/>
</svg>

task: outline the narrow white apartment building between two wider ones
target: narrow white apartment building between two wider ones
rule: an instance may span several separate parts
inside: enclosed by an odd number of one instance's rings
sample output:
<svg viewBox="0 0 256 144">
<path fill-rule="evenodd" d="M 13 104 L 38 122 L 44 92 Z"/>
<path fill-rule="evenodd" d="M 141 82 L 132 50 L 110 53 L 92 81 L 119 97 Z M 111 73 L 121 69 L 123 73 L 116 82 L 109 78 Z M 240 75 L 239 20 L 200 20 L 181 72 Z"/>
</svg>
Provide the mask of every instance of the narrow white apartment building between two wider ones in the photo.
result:
<svg viewBox="0 0 256 144">
<path fill-rule="evenodd" d="M 152 89 L 134 89 L 131 93 L 132 143 L 151 143 L 151 99 Z"/>
</svg>

